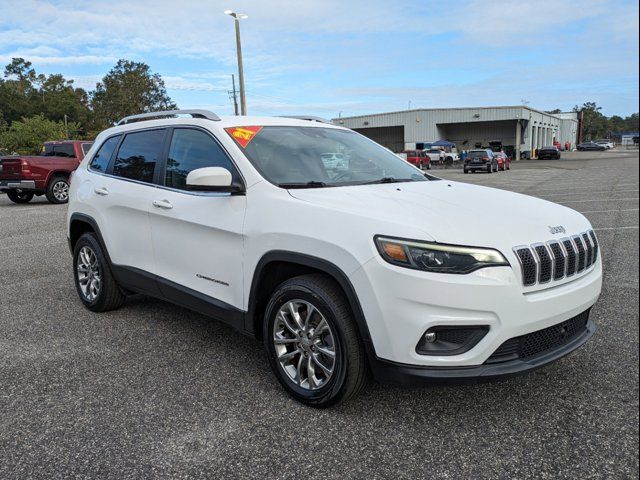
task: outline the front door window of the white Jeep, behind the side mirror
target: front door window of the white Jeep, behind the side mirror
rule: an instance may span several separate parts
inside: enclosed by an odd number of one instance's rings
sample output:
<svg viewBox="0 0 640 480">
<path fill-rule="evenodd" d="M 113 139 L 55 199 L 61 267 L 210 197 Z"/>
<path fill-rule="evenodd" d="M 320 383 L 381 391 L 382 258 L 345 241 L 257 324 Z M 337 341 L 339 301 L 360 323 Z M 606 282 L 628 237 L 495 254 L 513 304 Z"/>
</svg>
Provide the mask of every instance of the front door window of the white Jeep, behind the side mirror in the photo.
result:
<svg viewBox="0 0 640 480">
<path fill-rule="evenodd" d="M 237 179 L 231 160 L 210 135 L 200 130 L 175 129 L 167 157 L 165 186 L 184 190 L 189 172 L 203 167 L 224 167 Z"/>
</svg>

